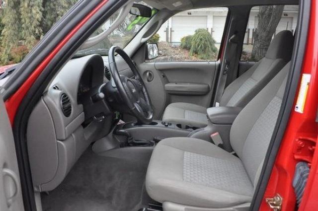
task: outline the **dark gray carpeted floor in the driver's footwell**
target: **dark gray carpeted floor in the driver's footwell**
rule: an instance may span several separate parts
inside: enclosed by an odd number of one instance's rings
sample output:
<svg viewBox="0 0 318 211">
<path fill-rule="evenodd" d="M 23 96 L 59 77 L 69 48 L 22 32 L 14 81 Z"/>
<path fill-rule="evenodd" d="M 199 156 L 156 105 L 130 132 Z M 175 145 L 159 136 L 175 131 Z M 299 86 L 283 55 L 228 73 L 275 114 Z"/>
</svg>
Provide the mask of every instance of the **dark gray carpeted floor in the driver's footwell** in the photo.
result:
<svg viewBox="0 0 318 211">
<path fill-rule="evenodd" d="M 153 203 L 144 184 L 148 151 L 114 157 L 86 150 L 60 186 L 41 194 L 43 211 L 138 211 Z"/>
</svg>

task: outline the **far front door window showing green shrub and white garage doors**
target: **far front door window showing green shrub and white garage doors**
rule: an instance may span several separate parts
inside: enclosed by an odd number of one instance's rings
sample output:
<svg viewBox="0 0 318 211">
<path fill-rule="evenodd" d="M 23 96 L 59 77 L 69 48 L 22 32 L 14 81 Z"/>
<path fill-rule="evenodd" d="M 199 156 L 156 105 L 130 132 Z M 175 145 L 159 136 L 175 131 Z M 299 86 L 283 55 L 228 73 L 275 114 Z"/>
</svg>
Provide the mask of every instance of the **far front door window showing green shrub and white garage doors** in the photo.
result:
<svg viewBox="0 0 318 211">
<path fill-rule="evenodd" d="M 148 62 L 216 61 L 228 8 L 180 12 L 162 24 L 149 42 L 158 43 L 159 57 Z"/>
</svg>

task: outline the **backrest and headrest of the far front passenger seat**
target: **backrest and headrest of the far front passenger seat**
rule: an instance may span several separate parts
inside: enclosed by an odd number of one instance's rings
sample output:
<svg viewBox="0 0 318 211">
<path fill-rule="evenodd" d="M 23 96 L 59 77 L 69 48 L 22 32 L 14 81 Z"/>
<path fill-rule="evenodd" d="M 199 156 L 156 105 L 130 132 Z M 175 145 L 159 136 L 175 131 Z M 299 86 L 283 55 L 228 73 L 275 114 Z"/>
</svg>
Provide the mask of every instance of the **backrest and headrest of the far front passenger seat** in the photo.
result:
<svg viewBox="0 0 318 211">
<path fill-rule="evenodd" d="M 220 105 L 244 107 L 290 61 L 293 45 L 290 31 L 279 32 L 265 57 L 225 89 Z"/>
</svg>

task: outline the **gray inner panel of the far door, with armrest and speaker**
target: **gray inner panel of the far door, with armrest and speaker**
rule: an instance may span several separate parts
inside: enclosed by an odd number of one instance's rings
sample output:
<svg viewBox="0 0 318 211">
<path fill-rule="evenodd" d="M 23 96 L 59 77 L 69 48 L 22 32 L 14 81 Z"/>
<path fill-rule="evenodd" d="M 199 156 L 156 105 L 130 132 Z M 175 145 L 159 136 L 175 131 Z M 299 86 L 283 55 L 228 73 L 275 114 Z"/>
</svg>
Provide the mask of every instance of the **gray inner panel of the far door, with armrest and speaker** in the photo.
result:
<svg viewBox="0 0 318 211">
<path fill-rule="evenodd" d="M 154 118 L 160 119 L 164 108 L 174 102 L 194 103 L 209 107 L 213 94 L 218 62 L 157 62 L 143 63 L 143 76 L 154 108 Z M 152 80 L 147 76 L 153 74 Z"/>
</svg>

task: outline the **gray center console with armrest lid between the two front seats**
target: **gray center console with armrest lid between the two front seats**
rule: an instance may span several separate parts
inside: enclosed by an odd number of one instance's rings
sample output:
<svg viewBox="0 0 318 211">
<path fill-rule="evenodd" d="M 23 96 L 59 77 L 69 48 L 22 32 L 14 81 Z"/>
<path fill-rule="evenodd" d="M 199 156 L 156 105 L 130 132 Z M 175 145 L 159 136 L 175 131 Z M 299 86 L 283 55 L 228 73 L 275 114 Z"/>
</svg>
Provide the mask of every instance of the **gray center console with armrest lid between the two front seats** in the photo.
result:
<svg viewBox="0 0 318 211">
<path fill-rule="evenodd" d="M 218 132 L 223 141 L 222 147 L 231 152 L 230 130 L 241 109 L 239 107 L 208 108 L 208 124 L 205 128 L 154 120 L 148 125 L 138 122 L 117 125 L 113 134 L 124 137 L 126 141 L 122 146 L 153 146 L 156 142 L 171 137 L 190 137 L 212 141 L 211 135 Z"/>
</svg>

